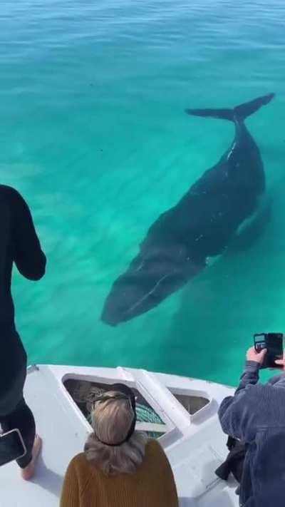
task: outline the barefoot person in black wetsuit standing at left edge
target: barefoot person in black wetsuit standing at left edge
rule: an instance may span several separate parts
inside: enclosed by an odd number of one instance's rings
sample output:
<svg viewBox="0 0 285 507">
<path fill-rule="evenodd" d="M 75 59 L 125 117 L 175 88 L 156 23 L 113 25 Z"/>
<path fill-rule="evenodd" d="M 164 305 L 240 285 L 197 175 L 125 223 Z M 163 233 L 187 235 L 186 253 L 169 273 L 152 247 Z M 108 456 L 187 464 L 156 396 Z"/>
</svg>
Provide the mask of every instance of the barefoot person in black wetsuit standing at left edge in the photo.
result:
<svg viewBox="0 0 285 507">
<path fill-rule="evenodd" d="M 46 256 L 28 205 L 14 188 L 0 185 L 0 424 L 2 431 L 21 431 L 27 454 L 17 462 L 22 477 L 29 479 L 41 439 L 36 436 L 33 414 L 23 397 L 27 357 L 14 323 L 13 263 L 28 280 L 40 280 L 45 274 Z"/>
</svg>

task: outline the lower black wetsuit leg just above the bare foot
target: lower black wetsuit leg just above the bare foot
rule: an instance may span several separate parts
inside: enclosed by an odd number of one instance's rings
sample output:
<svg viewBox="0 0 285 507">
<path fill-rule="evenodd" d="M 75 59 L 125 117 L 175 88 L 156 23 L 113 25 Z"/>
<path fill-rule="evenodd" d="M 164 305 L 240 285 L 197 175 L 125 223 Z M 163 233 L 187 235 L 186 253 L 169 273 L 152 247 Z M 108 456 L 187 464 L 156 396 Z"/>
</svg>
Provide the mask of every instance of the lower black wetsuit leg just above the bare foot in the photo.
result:
<svg viewBox="0 0 285 507">
<path fill-rule="evenodd" d="M 17 463 L 21 468 L 25 468 L 31 461 L 31 451 L 36 436 L 36 424 L 35 419 L 33 419 L 33 414 L 28 408 L 28 405 L 26 405 L 24 398 L 21 399 L 16 409 L 11 414 L 0 416 L 0 424 L 3 431 L 10 431 L 14 428 L 20 430 L 27 454 L 23 458 L 18 459 Z"/>
</svg>

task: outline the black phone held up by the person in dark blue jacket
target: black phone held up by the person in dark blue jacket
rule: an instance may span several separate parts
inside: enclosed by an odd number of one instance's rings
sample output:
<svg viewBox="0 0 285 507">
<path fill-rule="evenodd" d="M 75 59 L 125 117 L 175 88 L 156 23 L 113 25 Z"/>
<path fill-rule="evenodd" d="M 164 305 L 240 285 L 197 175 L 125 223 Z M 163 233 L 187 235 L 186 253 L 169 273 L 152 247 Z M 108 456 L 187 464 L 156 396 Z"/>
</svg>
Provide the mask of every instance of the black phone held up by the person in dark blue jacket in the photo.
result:
<svg viewBox="0 0 285 507">
<path fill-rule="evenodd" d="M 261 368 L 280 368 L 275 361 L 276 359 L 283 359 L 283 342 L 283 333 L 254 334 L 254 349 L 257 352 L 267 349 L 264 364 Z"/>
</svg>

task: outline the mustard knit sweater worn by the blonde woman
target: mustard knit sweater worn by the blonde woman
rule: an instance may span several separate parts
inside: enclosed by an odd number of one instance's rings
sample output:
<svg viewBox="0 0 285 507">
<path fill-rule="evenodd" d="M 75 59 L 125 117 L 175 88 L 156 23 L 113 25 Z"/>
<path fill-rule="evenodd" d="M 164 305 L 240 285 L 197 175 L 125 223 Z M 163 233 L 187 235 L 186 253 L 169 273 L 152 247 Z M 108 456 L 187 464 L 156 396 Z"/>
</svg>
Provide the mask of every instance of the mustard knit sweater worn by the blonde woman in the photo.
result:
<svg viewBox="0 0 285 507">
<path fill-rule="evenodd" d="M 61 507 L 178 507 L 172 469 L 160 444 L 147 442 L 135 473 L 107 476 L 84 454 L 68 466 Z"/>
</svg>

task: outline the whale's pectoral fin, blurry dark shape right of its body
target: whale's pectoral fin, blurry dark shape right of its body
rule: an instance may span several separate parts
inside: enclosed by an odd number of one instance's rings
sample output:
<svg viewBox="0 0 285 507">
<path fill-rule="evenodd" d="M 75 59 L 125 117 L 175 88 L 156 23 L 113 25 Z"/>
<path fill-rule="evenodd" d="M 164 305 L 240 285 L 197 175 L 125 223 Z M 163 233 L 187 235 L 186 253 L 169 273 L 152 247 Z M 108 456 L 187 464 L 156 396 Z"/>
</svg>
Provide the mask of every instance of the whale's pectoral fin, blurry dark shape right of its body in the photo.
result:
<svg viewBox="0 0 285 507">
<path fill-rule="evenodd" d="M 247 220 L 242 226 L 242 230 L 234 236 L 227 249 L 227 255 L 251 248 L 259 237 L 264 234 L 266 227 L 269 225 L 271 211 L 272 200 L 271 198 L 267 198 L 259 211 L 250 220 Z"/>
</svg>

